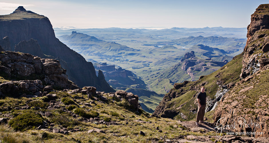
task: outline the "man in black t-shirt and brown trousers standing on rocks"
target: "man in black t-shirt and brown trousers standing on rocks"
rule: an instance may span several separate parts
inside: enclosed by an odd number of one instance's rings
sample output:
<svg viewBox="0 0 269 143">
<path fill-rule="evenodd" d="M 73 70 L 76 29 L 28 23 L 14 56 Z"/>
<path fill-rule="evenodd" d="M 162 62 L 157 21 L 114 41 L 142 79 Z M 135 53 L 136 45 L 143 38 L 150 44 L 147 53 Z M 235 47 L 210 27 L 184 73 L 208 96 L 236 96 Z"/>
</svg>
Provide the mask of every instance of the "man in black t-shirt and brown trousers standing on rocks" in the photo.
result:
<svg viewBox="0 0 269 143">
<path fill-rule="evenodd" d="M 198 102 L 198 112 L 196 117 L 196 125 L 199 126 L 199 121 L 201 123 L 205 123 L 204 116 L 205 116 L 205 104 L 206 104 L 206 93 L 205 93 L 205 87 L 201 87 L 201 92 L 197 95 L 197 102 Z"/>
</svg>

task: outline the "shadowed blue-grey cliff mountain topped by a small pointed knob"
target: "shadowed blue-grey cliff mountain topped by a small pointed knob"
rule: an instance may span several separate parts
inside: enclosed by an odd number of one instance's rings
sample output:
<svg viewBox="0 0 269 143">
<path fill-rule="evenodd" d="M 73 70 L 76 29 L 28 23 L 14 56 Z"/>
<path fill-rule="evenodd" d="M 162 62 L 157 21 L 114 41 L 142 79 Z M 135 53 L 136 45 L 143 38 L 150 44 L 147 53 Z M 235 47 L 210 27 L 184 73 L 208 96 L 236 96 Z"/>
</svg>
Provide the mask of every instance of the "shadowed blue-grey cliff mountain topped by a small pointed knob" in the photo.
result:
<svg viewBox="0 0 269 143">
<path fill-rule="evenodd" d="M 14 46 L 23 40 L 28 41 L 31 38 L 37 40 L 43 54 L 61 59 L 59 61 L 63 68 L 67 69 L 68 78 L 78 86 L 94 86 L 98 91 L 105 92 L 114 91 L 109 84 L 100 81 L 96 76 L 91 62 L 87 62 L 84 57 L 55 37 L 47 17 L 18 7 L 13 13 L 0 16 L 0 37 L 5 36 L 10 37 L 11 50 L 14 50 Z M 22 48 L 18 49 L 22 50 Z"/>
</svg>

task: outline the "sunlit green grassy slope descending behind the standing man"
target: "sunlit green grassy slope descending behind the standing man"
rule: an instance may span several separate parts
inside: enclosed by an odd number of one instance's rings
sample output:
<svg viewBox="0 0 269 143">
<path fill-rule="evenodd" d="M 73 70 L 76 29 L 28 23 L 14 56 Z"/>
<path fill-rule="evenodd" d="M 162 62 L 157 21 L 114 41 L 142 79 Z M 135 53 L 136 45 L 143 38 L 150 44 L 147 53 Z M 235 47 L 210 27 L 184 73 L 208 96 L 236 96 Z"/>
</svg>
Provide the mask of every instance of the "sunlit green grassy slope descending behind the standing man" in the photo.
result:
<svg viewBox="0 0 269 143">
<path fill-rule="evenodd" d="M 241 74 L 242 69 L 242 58 L 243 54 L 237 55 L 234 57 L 232 61 L 224 65 L 221 69 L 213 72 L 212 74 L 209 74 L 207 76 L 204 76 L 203 78 L 195 81 L 195 82 L 189 82 L 185 87 L 180 88 L 179 90 L 188 91 L 183 92 L 184 94 L 180 95 L 177 98 L 172 99 L 168 103 L 165 104 L 166 110 L 169 109 L 175 109 L 179 112 L 182 112 L 184 115 L 186 115 L 188 118 L 186 120 L 192 120 L 195 118 L 195 114 L 192 112 L 189 112 L 190 109 L 197 108 L 197 105 L 195 103 L 196 96 L 193 97 L 193 94 L 197 94 L 198 90 L 202 83 L 208 82 L 205 84 L 205 92 L 207 93 L 207 96 L 210 98 L 215 98 L 214 95 L 217 92 L 217 89 L 219 86 L 216 84 L 218 80 L 223 81 L 223 85 L 229 84 L 230 82 L 238 82 L 239 81 L 239 75 Z M 197 90 L 193 90 L 193 88 L 196 87 Z M 171 89 L 175 92 L 180 92 L 176 89 Z M 181 92 L 182 93 L 182 92 Z M 183 100 L 184 99 L 184 100 Z M 181 106 L 181 108 L 178 108 Z M 212 114 L 206 114 L 208 115 L 207 118 L 212 118 Z M 180 115 L 175 117 L 176 119 L 183 120 Z"/>
</svg>

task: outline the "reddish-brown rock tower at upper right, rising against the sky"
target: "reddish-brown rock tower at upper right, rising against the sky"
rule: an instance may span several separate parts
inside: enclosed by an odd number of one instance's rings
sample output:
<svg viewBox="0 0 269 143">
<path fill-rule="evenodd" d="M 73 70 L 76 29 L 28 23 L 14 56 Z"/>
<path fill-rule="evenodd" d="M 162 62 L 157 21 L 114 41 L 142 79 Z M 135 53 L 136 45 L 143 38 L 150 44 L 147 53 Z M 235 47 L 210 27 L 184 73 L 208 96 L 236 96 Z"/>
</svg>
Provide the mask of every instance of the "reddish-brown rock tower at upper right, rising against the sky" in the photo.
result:
<svg viewBox="0 0 269 143">
<path fill-rule="evenodd" d="M 247 43 L 244 49 L 241 78 L 246 78 L 269 64 L 268 30 L 268 4 L 264 4 L 260 5 L 251 15 L 251 22 L 248 25 Z"/>
</svg>

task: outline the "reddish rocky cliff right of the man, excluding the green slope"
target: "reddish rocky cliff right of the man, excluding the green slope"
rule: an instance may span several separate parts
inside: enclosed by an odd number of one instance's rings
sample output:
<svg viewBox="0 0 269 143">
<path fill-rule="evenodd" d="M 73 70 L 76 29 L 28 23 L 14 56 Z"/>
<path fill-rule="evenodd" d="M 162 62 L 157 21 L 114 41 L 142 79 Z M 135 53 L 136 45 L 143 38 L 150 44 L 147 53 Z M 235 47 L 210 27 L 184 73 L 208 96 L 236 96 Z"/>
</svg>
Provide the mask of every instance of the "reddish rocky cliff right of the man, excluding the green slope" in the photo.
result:
<svg viewBox="0 0 269 143">
<path fill-rule="evenodd" d="M 240 82 L 221 99 L 215 114 L 214 122 L 232 124 L 243 117 L 246 122 L 252 121 L 262 126 L 250 126 L 233 129 L 234 131 L 263 132 L 269 136 L 269 4 L 260 5 L 251 15 L 248 26 L 247 43 L 244 49 Z"/>
</svg>

